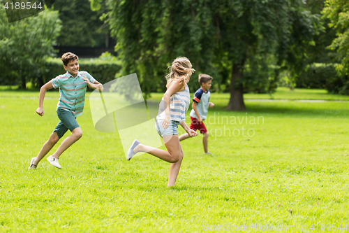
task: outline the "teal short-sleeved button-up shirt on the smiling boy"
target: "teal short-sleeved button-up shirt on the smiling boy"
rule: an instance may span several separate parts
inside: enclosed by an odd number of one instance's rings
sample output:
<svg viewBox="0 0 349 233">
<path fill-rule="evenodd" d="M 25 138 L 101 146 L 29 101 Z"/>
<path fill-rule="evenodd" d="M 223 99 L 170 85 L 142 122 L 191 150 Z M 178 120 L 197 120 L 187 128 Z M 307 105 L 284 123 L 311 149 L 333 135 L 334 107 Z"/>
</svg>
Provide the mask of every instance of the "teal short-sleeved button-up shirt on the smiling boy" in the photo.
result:
<svg viewBox="0 0 349 233">
<path fill-rule="evenodd" d="M 84 82 L 82 76 L 88 78 L 91 83 L 96 81 L 96 79 L 86 71 L 79 71 L 75 78 L 67 71 L 51 80 L 54 89 L 59 87 L 60 97 L 57 109 L 62 108 L 71 111 L 75 118 L 84 111 L 87 83 Z"/>
</svg>

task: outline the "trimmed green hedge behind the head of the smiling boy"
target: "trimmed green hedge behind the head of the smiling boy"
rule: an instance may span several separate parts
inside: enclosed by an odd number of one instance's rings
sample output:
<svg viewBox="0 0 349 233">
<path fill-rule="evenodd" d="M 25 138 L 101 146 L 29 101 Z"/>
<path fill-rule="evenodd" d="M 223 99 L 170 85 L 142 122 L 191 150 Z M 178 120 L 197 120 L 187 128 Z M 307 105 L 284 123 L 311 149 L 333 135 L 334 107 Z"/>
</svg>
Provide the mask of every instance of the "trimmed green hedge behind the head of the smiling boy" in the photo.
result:
<svg viewBox="0 0 349 233">
<path fill-rule="evenodd" d="M 103 59 L 107 55 L 102 55 L 99 59 L 79 59 L 80 71 L 87 71 L 98 80 L 98 82 L 104 84 L 111 80 L 114 80 L 115 74 L 121 69 L 120 62 L 115 57 L 110 59 Z M 59 58 L 49 58 L 45 62 L 43 69 L 43 80 L 44 83 L 48 82 L 52 78 L 59 74 L 66 73 L 63 68 L 63 63 Z"/>
</svg>

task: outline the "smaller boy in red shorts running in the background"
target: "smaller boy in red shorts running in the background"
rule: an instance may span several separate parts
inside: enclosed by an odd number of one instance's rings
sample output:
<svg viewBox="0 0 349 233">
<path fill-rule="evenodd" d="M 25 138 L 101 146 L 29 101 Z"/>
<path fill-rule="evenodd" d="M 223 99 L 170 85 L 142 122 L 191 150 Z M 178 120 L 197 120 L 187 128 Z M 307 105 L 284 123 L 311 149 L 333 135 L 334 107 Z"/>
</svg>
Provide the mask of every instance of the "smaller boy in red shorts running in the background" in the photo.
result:
<svg viewBox="0 0 349 233">
<path fill-rule="evenodd" d="M 205 154 L 213 155 L 208 150 L 208 137 L 209 132 L 207 132 L 207 129 L 204 125 L 203 120 L 207 118 L 207 112 L 209 111 L 209 107 L 213 107 L 214 104 L 209 102 L 209 97 L 211 95 L 211 92 L 209 92 L 209 88 L 211 88 L 211 82 L 212 77 L 200 73 L 199 75 L 199 83 L 200 88 L 195 92 L 194 98 L 193 98 L 193 105 L 191 106 L 193 109 L 191 110 L 191 126 L 190 128 L 200 131 L 201 134 L 204 134 L 204 137 L 202 139 L 202 143 L 204 144 L 204 150 Z M 189 135 L 181 134 L 179 136 L 179 141 L 183 141 L 184 139 L 188 139 Z"/>
</svg>

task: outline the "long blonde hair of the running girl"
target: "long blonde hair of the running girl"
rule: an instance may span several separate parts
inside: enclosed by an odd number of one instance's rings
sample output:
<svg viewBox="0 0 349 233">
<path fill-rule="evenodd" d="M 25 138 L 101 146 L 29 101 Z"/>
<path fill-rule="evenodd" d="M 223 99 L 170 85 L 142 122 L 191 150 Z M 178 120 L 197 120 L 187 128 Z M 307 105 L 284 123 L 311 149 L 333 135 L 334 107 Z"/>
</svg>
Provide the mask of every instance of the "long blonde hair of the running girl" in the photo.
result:
<svg viewBox="0 0 349 233">
<path fill-rule="evenodd" d="M 172 65 L 168 66 L 168 69 L 170 69 L 170 73 L 166 76 L 166 87 L 169 87 L 174 80 L 178 80 L 179 83 L 188 83 L 191 73 L 195 71 L 191 67 L 191 61 L 186 57 L 177 57 Z"/>
</svg>

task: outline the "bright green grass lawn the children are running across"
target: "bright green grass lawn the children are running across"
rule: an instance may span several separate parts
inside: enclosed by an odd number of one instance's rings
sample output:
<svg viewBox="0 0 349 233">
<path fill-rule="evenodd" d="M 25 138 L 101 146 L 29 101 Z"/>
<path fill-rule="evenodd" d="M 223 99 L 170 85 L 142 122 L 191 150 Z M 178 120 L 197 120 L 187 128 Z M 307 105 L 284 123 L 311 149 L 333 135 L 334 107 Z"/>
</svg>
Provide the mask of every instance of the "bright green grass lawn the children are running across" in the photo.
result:
<svg viewBox="0 0 349 233">
<path fill-rule="evenodd" d="M 273 96 L 349 100 L 322 90 L 297 92 L 279 89 Z M 40 117 L 38 92 L 0 91 L 0 232 L 349 227 L 349 102 L 246 101 L 247 112 L 237 113 L 225 111 L 227 94 L 212 94 L 216 106 L 206 125 L 214 156 L 203 153 L 201 136 L 183 141 L 177 184 L 166 188 L 169 164 L 151 155 L 126 161 L 118 134 L 94 129 L 88 99 L 77 118 L 84 136 L 61 155 L 63 169 L 44 159 L 29 171 L 59 121 L 59 92 L 46 96 Z"/>
</svg>

